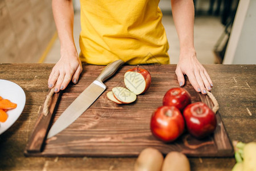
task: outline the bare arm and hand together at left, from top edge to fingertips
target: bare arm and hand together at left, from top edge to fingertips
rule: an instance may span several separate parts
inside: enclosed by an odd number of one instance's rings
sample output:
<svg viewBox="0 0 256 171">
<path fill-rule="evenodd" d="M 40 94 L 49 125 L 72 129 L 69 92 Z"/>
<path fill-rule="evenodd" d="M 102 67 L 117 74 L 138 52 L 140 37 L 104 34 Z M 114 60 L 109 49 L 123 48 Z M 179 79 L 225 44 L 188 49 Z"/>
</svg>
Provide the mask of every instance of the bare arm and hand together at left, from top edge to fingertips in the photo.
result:
<svg viewBox="0 0 256 171">
<path fill-rule="evenodd" d="M 72 79 L 77 83 L 82 72 L 82 64 L 76 51 L 73 26 L 74 7 L 72 0 L 52 0 L 52 12 L 60 40 L 60 59 L 52 68 L 48 87 L 54 92 L 65 89 Z"/>
</svg>

